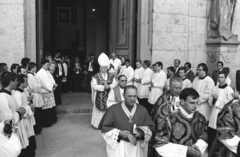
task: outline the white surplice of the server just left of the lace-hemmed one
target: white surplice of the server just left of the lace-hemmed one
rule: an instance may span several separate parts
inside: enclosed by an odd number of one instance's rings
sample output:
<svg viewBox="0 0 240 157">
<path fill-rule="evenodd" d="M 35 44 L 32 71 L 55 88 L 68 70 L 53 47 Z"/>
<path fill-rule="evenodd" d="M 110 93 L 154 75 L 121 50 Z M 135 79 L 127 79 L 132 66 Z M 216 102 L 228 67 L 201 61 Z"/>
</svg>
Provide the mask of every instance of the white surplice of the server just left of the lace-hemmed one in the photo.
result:
<svg viewBox="0 0 240 157">
<path fill-rule="evenodd" d="M 43 98 L 41 94 L 41 83 L 36 75 L 28 74 L 28 88 L 33 89 L 33 105 L 35 107 L 41 108 L 43 106 Z"/>
</svg>

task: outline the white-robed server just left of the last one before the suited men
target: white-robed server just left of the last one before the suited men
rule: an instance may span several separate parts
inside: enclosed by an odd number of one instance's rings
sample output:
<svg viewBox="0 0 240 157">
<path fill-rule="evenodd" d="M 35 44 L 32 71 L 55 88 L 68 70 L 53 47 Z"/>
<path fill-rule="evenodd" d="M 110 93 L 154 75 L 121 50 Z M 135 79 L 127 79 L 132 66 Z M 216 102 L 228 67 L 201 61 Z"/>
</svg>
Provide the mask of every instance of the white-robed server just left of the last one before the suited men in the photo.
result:
<svg viewBox="0 0 240 157">
<path fill-rule="evenodd" d="M 148 96 L 149 96 L 149 85 L 151 84 L 152 81 L 152 75 L 153 71 L 149 68 L 150 66 L 150 61 L 145 60 L 143 62 L 143 78 L 139 80 L 140 86 L 139 86 L 139 91 L 138 91 L 138 98 L 139 98 L 139 104 L 145 106 L 147 108 L 148 105 Z"/>
</svg>

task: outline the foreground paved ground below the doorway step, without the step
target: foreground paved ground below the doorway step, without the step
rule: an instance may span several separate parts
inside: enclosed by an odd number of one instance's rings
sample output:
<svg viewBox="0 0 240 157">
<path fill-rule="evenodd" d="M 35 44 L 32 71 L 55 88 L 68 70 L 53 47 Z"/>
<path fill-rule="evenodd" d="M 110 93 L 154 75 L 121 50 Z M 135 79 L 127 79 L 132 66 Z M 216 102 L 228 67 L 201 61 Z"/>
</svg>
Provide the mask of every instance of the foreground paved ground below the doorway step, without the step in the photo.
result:
<svg viewBox="0 0 240 157">
<path fill-rule="evenodd" d="M 36 157 L 106 157 L 105 142 L 90 126 L 91 114 L 58 116 L 57 124 L 36 136 Z"/>
</svg>

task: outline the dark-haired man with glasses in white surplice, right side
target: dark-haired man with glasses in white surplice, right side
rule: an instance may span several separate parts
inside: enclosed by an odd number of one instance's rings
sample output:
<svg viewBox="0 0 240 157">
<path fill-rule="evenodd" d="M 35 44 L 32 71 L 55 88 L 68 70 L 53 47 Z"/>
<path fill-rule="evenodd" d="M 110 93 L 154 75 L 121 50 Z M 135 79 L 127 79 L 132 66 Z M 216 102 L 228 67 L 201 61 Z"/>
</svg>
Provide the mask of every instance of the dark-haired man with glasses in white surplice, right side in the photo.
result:
<svg viewBox="0 0 240 157">
<path fill-rule="evenodd" d="M 200 95 L 197 110 L 209 121 L 212 105 L 210 100 L 212 100 L 214 82 L 211 77 L 207 76 L 208 67 L 205 63 L 198 64 L 197 73 L 198 76 L 193 80 L 193 88 Z"/>
</svg>

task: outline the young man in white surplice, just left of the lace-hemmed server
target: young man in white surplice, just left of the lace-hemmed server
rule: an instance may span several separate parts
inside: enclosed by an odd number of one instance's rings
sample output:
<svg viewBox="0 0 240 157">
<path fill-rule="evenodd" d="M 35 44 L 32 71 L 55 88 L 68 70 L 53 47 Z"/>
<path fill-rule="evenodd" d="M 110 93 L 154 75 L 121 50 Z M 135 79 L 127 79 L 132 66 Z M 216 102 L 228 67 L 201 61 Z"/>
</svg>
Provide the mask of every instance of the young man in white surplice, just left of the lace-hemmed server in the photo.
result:
<svg viewBox="0 0 240 157">
<path fill-rule="evenodd" d="M 42 131 L 42 106 L 43 98 L 41 94 L 41 83 L 36 76 L 37 65 L 36 63 L 30 62 L 28 64 L 28 88 L 33 91 L 33 105 L 35 106 L 34 117 L 36 125 L 34 126 L 35 134 L 40 134 Z"/>
</svg>

